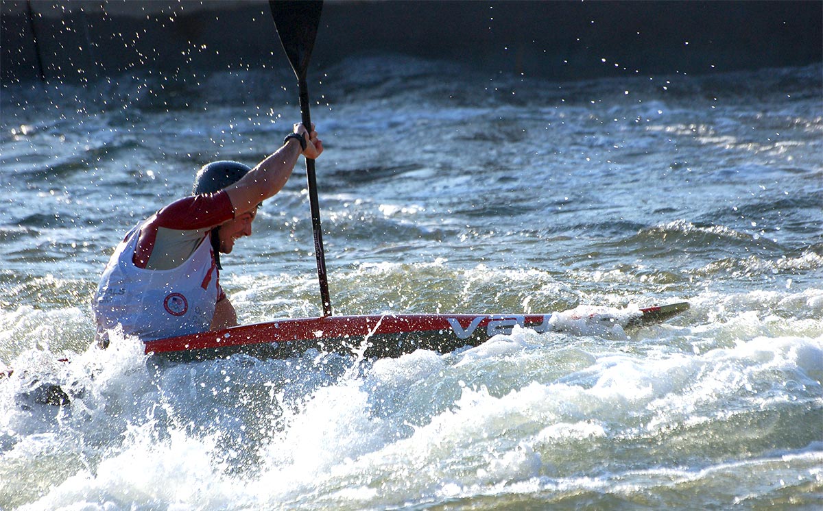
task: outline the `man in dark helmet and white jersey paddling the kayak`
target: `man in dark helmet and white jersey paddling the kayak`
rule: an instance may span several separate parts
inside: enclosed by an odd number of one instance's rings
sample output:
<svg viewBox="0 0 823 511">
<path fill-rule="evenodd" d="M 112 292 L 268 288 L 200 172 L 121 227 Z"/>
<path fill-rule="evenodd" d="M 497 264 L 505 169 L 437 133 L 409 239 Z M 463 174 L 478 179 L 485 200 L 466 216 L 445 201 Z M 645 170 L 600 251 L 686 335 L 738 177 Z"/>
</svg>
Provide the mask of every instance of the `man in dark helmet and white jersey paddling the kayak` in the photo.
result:
<svg viewBox="0 0 823 511">
<path fill-rule="evenodd" d="M 317 132 L 295 124 L 254 168 L 226 161 L 201 168 L 192 196 L 139 223 L 115 248 L 92 302 L 97 342 L 108 346 L 118 326 L 150 341 L 237 325 L 219 282 L 220 254 L 251 236 L 258 205 L 286 185 L 300 154 L 322 152 Z"/>
</svg>

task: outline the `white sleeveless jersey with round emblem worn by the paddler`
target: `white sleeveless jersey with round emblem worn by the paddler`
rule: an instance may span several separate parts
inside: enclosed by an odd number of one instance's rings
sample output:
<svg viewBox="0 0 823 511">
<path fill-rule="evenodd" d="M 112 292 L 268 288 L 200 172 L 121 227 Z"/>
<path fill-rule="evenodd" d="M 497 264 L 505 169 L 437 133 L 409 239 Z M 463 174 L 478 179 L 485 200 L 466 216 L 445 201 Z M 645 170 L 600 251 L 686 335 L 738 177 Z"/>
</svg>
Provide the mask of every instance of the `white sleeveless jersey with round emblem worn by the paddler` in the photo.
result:
<svg viewBox="0 0 823 511">
<path fill-rule="evenodd" d="M 142 341 L 207 331 L 218 297 L 211 234 L 174 269 L 142 269 L 132 257 L 140 225 L 114 250 L 92 302 L 98 339 L 117 325 Z"/>
</svg>

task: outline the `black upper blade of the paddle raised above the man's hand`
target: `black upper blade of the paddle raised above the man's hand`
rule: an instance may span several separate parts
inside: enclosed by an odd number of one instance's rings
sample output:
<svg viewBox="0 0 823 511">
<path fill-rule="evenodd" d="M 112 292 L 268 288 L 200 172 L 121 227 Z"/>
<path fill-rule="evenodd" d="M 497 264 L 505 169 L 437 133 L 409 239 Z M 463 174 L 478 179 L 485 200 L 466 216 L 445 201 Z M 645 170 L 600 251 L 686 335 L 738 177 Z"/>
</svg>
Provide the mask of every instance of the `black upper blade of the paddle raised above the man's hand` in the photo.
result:
<svg viewBox="0 0 823 511">
<path fill-rule="evenodd" d="M 269 0 L 277 35 L 298 80 L 305 80 L 314 39 L 320 25 L 322 1 Z"/>
</svg>

